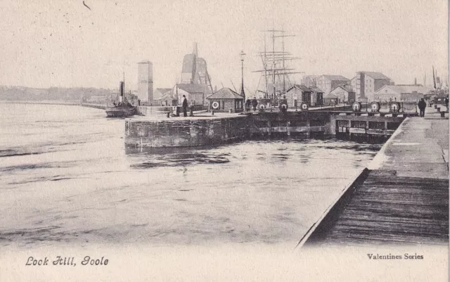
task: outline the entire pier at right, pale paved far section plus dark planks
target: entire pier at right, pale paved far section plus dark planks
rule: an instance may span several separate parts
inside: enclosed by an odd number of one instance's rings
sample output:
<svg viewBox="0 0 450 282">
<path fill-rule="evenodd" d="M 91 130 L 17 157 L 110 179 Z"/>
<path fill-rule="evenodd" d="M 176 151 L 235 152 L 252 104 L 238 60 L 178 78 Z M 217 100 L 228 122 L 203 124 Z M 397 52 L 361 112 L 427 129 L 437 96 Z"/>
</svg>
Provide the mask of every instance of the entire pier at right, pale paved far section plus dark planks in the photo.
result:
<svg viewBox="0 0 450 282">
<path fill-rule="evenodd" d="M 406 119 L 302 246 L 448 245 L 449 120 Z"/>
</svg>

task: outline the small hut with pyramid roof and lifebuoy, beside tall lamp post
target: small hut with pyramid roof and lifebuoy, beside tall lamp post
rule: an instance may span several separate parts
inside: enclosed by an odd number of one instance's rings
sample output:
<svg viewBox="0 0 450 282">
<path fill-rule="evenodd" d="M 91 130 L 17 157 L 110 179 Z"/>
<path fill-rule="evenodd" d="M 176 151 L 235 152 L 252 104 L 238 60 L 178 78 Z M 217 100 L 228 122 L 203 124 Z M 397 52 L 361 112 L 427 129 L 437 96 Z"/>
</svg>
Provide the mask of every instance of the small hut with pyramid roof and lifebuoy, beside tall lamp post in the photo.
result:
<svg viewBox="0 0 450 282">
<path fill-rule="evenodd" d="M 218 112 L 240 113 L 244 110 L 244 97 L 229 88 L 222 88 L 207 97 L 210 109 Z"/>
</svg>

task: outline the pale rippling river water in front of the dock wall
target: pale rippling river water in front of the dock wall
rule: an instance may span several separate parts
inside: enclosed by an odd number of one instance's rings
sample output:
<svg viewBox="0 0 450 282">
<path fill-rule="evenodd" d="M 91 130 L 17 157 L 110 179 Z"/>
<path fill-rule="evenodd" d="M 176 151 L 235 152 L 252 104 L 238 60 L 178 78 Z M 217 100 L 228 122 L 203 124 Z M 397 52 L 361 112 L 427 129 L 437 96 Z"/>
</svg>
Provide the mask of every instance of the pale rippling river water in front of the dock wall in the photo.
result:
<svg viewBox="0 0 450 282">
<path fill-rule="evenodd" d="M 351 141 L 124 148 L 124 120 L 0 104 L 0 245 L 295 244 L 379 150 Z"/>
</svg>

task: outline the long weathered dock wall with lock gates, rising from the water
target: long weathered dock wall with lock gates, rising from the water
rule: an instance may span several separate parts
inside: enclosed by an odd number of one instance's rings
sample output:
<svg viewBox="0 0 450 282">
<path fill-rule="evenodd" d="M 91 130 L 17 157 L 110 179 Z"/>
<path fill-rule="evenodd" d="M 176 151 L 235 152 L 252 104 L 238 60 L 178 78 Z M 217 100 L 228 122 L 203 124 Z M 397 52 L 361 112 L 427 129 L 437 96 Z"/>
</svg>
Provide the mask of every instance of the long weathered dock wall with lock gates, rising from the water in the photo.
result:
<svg viewBox="0 0 450 282">
<path fill-rule="evenodd" d="M 148 110 L 150 107 L 143 107 Z M 271 136 L 363 136 L 367 141 L 389 138 L 404 117 L 338 115 L 326 110 L 252 112 L 244 115 L 165 117 L 165 109 L 152 108 L 153 117 L 126 120 L 125 143 L 139 147 L 211 146 L 229 141 Z M 160 113 L 158 115 L 158 113 Z M 161 117 L 160 115 L 163 115 Z M 349 115 L 347 115 L 349 114 Z"/>
</svg>

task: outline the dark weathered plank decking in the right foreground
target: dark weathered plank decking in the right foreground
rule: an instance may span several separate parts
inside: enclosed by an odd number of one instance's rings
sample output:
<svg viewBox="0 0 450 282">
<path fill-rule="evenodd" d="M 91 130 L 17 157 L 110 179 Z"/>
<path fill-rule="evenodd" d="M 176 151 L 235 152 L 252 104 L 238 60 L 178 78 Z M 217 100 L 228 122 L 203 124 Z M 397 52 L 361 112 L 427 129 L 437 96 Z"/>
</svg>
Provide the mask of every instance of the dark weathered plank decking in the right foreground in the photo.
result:
<svg viewBox="0 0 450 282">
<path fill-rule="evenodd" d="M 302 242 L 301 242 L 302 243 Z M 449 181 L 367 172 L 349 188 L 304 245 L 449 243 Z"/>
</svg>

